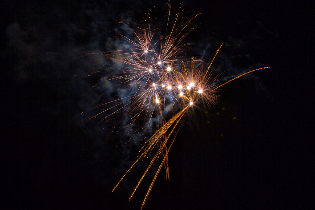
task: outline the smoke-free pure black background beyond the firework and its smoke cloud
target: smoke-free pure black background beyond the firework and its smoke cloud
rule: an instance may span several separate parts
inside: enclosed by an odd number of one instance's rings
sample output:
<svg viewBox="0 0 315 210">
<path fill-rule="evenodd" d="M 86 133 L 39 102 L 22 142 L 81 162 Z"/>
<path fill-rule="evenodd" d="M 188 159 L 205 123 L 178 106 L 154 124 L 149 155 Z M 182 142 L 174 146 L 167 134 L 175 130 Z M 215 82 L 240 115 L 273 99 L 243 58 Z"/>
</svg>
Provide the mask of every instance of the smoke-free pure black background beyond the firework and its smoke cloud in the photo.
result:
<svg viewBox="0 0 315 210">
<path fill-rule="evenodd" d="M 81 78 L 69 77 L 76 72 L 51 68 L 56 72 L 42 76 L 42 69 L 49 68 L 43 65 L 29 70 L 32 77 L 20 79 L 16 69 L 21 56 L 8 53 L 7 28 L 15 22 L 22 29 L 42 25 L 35 31 L 38 36 L 57 34 L 51 42 L 62 51 L 69 40 L 55 28 L 80 23 L 78 14 L 85 3 L 90 2 L 1 3 L 0 197 L 6 209 L 140 209 L 149 182 L 125 204 L 141 171 L 111 193 L 123 173 L 115 172 L 121 158 L 119 137 L 96 144 L 95 139 L 106 134 L 76 124 L 82 92 L 88 89 L 78 82 Z M 115 16 L 126 11 L 140 14 L 154 3 L 108 5 L 111 11 L 102 4 L 100 8 Z M 62 15 L 51 16 L 51 8 L 60 8 Z M 187 1 L 183 8 L 203 13 L 189 41 L 198 43 L 210 34 L 224 43 L 228 37 L 254 33 L 258 38 L 249 39 L 244 51 L 271 69 L 253 73 L 264 88 L 240 78 L 222 88 L 221 101 L 207 114 L 194 109 L 169 153 L 170 183 L 162 172 L 144 209 L 312 209 L 314 7 L 297 2 Z M 89 37 L 89 29 L 82 30 Z M 77 45 L 85 38 L 78 38 Z"/>
</svg>

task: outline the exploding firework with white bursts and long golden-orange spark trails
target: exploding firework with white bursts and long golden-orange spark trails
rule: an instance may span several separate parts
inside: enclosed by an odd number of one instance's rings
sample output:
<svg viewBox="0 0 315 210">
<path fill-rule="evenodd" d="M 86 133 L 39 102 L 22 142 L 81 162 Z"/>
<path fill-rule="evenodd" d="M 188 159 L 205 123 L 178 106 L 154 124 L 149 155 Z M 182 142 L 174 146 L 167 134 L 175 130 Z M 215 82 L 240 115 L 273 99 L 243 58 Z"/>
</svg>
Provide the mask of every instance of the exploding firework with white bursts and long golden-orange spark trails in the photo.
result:
<svg viewBox="0 0 315 210">
<path fill-rule="evenodd" d="M 218 48 L 210 63 L 206 63 L 203 60 L 196 60 L 193 57 L 189 61 L 186 61 L 185 58 L 180 57 L 183 48 L 186 47 L 181 42 L 191 31 L 191 29 L 188 29 L 188 26 L 194 18 L 189 19 L 185 23 L 181 22 L 178 24 L 179 13 L 177 13 L 174 24 L 164 36 L 156 35 L 154 33 L 156 30 L 152 30 L 150 24 L 140 31 L 134 30 L 134 38 L 120 35 L 131 47 L 104 54 L 106 58 L 123 64 L 123 67 L 121 67 L 122 71 L 117 71 L 111 77 L 106 77 L 106 81 L 122 81 L 127 87 L 135 91 L 130 91 L 131 94 L 129 96 L 106 102 L 106 104 L 118 103 L 109 106 L 109 108 L 106 108 L 93 117 L 105 114 L 105 117 L 103 117 L 104 120 L 118 111 L 125 111 L 129 115 L 132 115 L 129 125 L 141 121 L 140 118 L 146 119 L 147 124 L 150 123 L 152 118 L 158 119 L 159 128 L 145 142 L 139 152 L 138 159 L 112 190 L 114 191 L 117 188 L 118 184 L 137 162 L 148 157 L 154 151 L 151 162 L 129 197 L 130 200 L 146 173 L 152 167 L 152 164 L 159 157 L 162 157 L 160 158 L 162 161 L 159 163 L 159 167 L 142 202 L 141 209 L 163 166 L 166 169 L 166 178 L 169 179 L 169 149 L 176 137 L 175 128 L 180 124 L 180 120 L 184 118 L 187 111 L 191 107 L 198 105 L 200 101 L 203 101 L 208 106 L 213 105 L 217 101 L 217 91 L 220 87 L 234 79 L 259 70 L 248 71 L 225 83 L 219 83 L 218 77 L 214 76 L 211 71 L 211 65 L 222 45 Z M 181 27 L 177 28 L 177 25 Z M 172 109 L 173 113 L 176 114 L 167 119 L 166 110 L 169 109 Z M 157 151 L 154 148 L 157 148 Z"/>
</svg>

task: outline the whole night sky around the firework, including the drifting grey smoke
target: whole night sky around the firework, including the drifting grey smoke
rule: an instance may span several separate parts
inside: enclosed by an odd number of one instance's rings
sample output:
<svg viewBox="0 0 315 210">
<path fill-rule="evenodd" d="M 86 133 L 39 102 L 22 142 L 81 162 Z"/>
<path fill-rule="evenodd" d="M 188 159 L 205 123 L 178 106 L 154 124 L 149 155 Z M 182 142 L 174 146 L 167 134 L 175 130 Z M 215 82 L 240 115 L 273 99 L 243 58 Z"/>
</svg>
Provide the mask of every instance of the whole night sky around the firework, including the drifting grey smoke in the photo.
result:
<svg viewBox="0 0 315 210">
<path fill-rule="evenodd" d="M 4 209 L 140 209 L 158 165 L 126 206 L 147 162 L 111 191 L 135 161 L 139 135 L 128 142 L 119 114 L 87 119 L 117 97 L 102 87 L 111 64 L 101 54 L 122 49 L 117 32 L 131 37 L 150 8 L 163 31 L 166 3 L 1 3 Z M 143 209 L 313 209 L 314 5 L 171 5 L 183 17 L 202 13 L 183 40 L 186 59 L 210 62 L 223 43 L 213 64 L 220 78 L 270 69 L 228 83 L 216 105 L 187 114 L 169 152 L 170 181 L 162 169 Z"/>
</svg>

